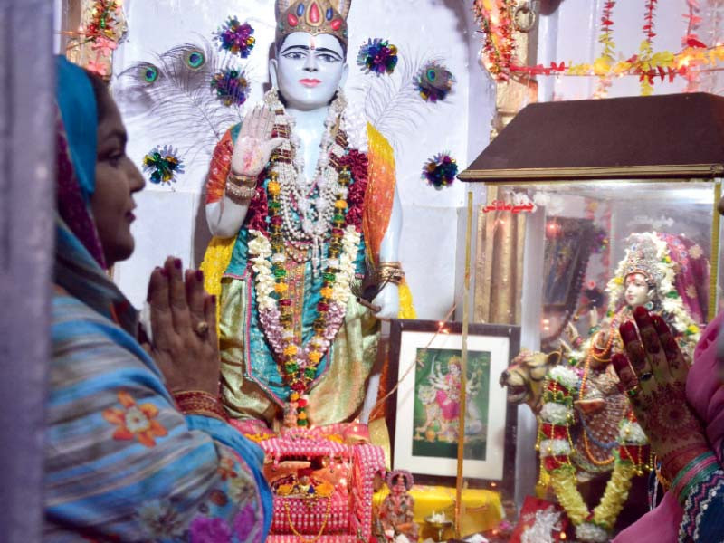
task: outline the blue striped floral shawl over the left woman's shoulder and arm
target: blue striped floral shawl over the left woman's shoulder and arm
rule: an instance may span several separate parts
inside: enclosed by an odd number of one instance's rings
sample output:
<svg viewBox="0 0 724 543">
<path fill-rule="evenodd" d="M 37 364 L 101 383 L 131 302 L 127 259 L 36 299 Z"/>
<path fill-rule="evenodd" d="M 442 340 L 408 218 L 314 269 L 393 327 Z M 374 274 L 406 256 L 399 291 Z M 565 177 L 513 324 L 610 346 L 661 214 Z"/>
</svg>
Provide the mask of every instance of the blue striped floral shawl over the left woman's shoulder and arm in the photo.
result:
<svg viewBox="0 0 724 543">
<path fill-rule="evenodd" d="M 262 452 L 183 415 L 138 343 L 77 300 L 53 302 L 43 538 L 262 541 Z"/>
</svg>

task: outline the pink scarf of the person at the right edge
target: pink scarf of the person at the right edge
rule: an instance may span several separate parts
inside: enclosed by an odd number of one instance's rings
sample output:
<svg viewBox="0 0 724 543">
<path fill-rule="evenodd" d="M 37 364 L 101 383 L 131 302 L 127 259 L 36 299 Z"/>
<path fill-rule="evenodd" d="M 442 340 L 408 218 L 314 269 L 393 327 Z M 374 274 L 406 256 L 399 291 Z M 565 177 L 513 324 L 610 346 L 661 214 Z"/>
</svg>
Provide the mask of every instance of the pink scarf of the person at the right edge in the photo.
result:
<svg viewBox="0 0 724 543">
<path fill-rule="evenodd" d="M 721 442 L 724 439 L 724 386 L 719 380 L 717 365 L 717 334 L 724 319 L 719 313 L 701 334 L 694 350 L 694 364 L 686 380 L 686 398 L 704 427 L 713 450 L 722 461 Z M 678 539 L 683 511 L 671 492 L 659 506 L 624 529 L 614 543 L 671 543 Z"/>
</svg>

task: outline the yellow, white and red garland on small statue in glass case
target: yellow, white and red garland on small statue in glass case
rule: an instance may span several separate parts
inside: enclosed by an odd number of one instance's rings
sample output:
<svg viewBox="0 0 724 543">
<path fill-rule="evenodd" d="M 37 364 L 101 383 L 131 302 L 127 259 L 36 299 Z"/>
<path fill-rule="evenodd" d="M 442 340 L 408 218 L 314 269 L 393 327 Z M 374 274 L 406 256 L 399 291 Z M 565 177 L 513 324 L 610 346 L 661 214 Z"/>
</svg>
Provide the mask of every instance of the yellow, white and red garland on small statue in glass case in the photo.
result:
<svg viewBox="0 0 724 543">
<path fill-rule="evenodd" d="M 614 472 L 598 506 L 588 510 L 576 487 L 576 467 L 571 462 L 574 445 L 570 425 L 575 418 L 573 402 L 579 386 L 580 377 L 571 367 L 554 367 L 546 376 L 536 443 L 540 453 L 540 480 L 549 475 L 558 501 L 576 526 L 576 537 L 580 541 L 603 543 L 609 540 L 609 531 L 628 498 L 633 475 L 643 474 L 647 467 L 647 442 L 633 414 L 627 414 L 619 425 Z"/>
</svg>

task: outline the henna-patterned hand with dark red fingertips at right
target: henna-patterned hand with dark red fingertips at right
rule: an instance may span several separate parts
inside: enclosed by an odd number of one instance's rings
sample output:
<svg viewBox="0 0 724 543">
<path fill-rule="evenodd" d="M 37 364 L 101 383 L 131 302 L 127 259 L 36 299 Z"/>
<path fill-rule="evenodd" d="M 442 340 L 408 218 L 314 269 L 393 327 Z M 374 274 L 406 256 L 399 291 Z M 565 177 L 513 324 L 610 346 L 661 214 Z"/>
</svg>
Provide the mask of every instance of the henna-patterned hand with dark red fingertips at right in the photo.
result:
<svg viewBox="0 0 724 543">
<path fill-rule="evenodd" d="M 659 315 L 642 307 L 633 318 L 635 325 L 629 321 L 619 328 L 628 358 L 614 355 L 614 368 L 638 423 L 662 461 L 664 476 L 672 479 L 710 446 L 686 401 L 689 367 L 671 330 Z"/>
</svg>

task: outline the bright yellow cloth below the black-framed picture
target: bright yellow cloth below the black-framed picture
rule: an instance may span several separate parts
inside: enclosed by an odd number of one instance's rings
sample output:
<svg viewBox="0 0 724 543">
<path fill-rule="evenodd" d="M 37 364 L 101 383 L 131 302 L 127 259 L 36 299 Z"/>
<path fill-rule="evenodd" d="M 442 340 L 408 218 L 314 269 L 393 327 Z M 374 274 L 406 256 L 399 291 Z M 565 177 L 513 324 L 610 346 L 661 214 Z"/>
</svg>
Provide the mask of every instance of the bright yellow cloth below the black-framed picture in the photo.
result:
<svg viewBox="0 0 724 543">
<path fill-rule="evenodd" d="M 389 494 L 387 488 L 375 493 L 372 498 L 375 510 L 382 505 Z M 455 489 L 442 486 L 414 485 L 410 494 L 414 498 L 414 521 L 420 526 L 420 540 L 437 538 L 437 530 L 431 529 L 424 521 L 433 513 L 444 512 L 448 519 L 455 518 Z M 460 535 L 464 538 L 471 534 L 494 529 L 503 518 L 500 494 L 481 489 L 462 490 L 462 526 Z M 453 529 L 444 533 L 445 538 L 454 536 Z"/>
</svg>

